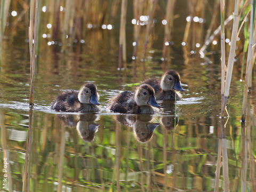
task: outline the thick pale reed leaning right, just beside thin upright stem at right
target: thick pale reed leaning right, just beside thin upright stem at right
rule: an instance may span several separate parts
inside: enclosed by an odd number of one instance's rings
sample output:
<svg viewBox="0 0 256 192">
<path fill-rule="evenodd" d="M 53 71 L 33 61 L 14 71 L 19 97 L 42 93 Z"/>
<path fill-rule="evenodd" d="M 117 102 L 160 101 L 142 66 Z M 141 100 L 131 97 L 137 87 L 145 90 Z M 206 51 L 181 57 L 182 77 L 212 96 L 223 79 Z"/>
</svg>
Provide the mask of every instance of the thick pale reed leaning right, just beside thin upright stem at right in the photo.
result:
<svg viewBox="0 0 256 192">
<path fill-rule="evenodd" d="M 239 0 L 235 0 L 234 22 L 233 22 L 233 29 L 232 29 L 232 35 L 231 35 L 230 50 L 228 55 L 228 68 L 227 68 L 226 83 L 225 83 L 225 93 L 224 93 L 223 102 L 221 103 L 221 117 L 223 117 L 225 114 L 226 104 L 227 104 L 228 95 L 229 95 L 229 88 L 231 83 L 231 77 L 233 72 L 234 60 L 235 60 L 236 39 L 237 39 L 237 31 L 238 31 L 238 23 L 239 23 L 238 7 L 239 7 Z"/>
</svg>

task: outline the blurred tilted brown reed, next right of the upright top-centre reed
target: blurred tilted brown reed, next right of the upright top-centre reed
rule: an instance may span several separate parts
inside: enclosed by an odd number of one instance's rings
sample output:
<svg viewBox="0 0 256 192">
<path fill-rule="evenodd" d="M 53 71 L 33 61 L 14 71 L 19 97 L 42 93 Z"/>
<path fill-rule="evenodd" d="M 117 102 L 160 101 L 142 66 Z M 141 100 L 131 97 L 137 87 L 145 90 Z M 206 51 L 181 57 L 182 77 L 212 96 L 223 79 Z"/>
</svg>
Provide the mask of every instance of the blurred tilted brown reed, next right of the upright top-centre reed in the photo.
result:
<svg viewBox="0 0 256 192">
<path fill-rule="evenodd" d="M 149 38 L 150 30 L 153 26 L 153 20 L 154 20 L 154 15 L 155 15 L 155 11 L 156 11 L 156 5 L 157 5 L 157 0 L 151 0 L 150 1 L 149 20 L 148 20 L 148 25 L 146 27 L 145 43 L 144 43 L 144 48 L 143 48 L 143 53 L 142 53 L 142 58 L 143 59 L 145 59 L 145 57 L 146 57 L 148 38 Z"/>
</svg>

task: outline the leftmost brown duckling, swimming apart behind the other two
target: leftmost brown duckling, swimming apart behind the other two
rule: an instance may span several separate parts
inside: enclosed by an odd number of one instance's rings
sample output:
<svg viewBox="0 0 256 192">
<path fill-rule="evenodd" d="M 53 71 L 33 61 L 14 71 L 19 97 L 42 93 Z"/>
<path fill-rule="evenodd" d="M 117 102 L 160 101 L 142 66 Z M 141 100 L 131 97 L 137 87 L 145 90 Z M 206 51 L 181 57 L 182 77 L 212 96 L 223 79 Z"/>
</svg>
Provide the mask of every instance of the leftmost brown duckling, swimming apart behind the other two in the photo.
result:
<svg viewBox="0 0 256 192">
<path fill-rule="evenodd" d="M 100 109 L 97 87 L 93 83 L 85 83 L 79 91 L 63 91 L 52 102 L 51 109 L 66 112 L 98 112 Z"/>
</svg>

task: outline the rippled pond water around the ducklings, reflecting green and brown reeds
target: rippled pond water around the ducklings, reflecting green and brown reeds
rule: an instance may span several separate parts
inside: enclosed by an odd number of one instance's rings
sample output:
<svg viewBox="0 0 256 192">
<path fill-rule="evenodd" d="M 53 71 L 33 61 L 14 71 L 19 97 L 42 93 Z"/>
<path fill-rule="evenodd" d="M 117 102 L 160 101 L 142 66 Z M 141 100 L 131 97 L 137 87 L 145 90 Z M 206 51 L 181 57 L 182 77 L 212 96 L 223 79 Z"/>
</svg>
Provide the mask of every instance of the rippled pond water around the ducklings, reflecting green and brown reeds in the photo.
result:
<svg viewBox="0 0 256 192">
<path fill-rule="evenodd" d="M 15 6 L 12 3 L 10 10 Z M 52 34 L 46 26 L 53 15 L 42 12 L 33 109 L 28 100 L 26 17 L 6 36 L 0 70 L 0 167 L 2 170 L 4 163 L 9 163 L 9 191 L 27 190 L 28 180 L 30 191 L 213 191 L 218 169 L 220 191 L 225 190 L 227 181 L 230 191 L 253 191 L 255 91 L 249 95 L 247 122 L 241 125 L 244 84 L 239 81 L 241 61 L 237 61 L 227 105 L 230 117 L 219 118 L 219 36 L 217 45 L 210 45 L 203 59 L 196 46 L 202 46 L 210 26 L 209 7 L 197 5 L 199 10 L 206 10 L 205 15 L 197 15 L 188 1 L 176 2 L 173 43 L 163 65 L 165 1 L 159 1 L 156 10 L 157 22 L 149 38 L 146 61 L 141 61 L 146 29 L 142 26 L 138 59 L 132 62 L 132 3 L 128 6 L 128 59 L 122 70 L 118 70 L 119 11 L 111 30 L 85 27 L 84 42 L 75 41 L 64 52 L 59 43 L 47 45 L 52 37 L 42 37 Z M 19 15 L 22 7 L 17 9 Z M 182 46 L 189 15 L 197 15 L 204 22 L 191 22 L 188 43 Z M 9 17 L 9 25 L 14 19 Z M 164 101 L 159 114 L 154 115 L 121 115 L 106 110 L 108 99 L 119 91 L 133 90 L 131 84 L 149 77 L 161 78 L 167 69 L 177 70 L 181 82 L 188 85 L 184 86 L 184 100 L 177 102 L 177 109 L 174 101 Z M 100 113 L 58 113 L 50 109 L 61 90 L 78 90 L 84 82 L 98 86 Z M 4 173 L 0 173 L 1 181 Z"/>
</svg>

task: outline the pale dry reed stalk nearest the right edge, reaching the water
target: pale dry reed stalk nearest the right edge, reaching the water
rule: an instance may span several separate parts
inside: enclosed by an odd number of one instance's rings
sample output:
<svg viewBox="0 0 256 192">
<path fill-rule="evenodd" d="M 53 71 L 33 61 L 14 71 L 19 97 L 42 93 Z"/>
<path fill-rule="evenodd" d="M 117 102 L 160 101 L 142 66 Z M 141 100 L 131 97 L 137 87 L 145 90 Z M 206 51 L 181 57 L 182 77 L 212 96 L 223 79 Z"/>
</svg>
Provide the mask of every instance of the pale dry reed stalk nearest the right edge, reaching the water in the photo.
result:
<svg viewBox="0 0 256 192">
<path fill-rule="evenodd" d="M 243 98 L 243 107 L 242 107 L 242 122 L 245 122 L 245 115 L 247 112 L 247 96 L 248 96 L 248 89 L 249 89 L 249 83 L 250 78 L 252 75 L 252 67 L 253 62 L 251 62 L 252 59 L 252 43 L 253 43 L 253 0 L 251 0 L 251 13 L 250 13 L 250 36 L 249 36 L 249 46 L 248 46 L 248 55 L 247 55 L 247 62 L 246 62 L 246 74 L 245 74 L 245 84 L 244 84 L 244 98 Z"/>
</svg>

